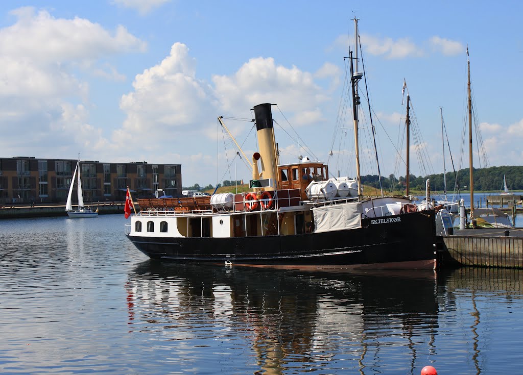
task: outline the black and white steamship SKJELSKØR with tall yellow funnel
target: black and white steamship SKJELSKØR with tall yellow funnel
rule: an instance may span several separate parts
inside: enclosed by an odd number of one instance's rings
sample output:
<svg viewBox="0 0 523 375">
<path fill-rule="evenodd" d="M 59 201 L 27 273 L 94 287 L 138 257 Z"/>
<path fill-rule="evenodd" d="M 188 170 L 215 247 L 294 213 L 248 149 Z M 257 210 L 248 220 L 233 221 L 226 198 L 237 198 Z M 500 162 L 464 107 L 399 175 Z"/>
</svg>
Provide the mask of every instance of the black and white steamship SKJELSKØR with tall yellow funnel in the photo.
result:
<svg viewBox="0 0 523 375">
<path fill-rule="evenodd" d="M 271 104 L 254 107 L 259 150 L 251 192 L 139 199 L 127 238 L 178 263 L 300 269 L 433 268 L 434 209 L 407 197 L 363 197 L 328 166 L 278 161 Z M 219 118 L 219 121 L 221 118 Z"/>
</svg>

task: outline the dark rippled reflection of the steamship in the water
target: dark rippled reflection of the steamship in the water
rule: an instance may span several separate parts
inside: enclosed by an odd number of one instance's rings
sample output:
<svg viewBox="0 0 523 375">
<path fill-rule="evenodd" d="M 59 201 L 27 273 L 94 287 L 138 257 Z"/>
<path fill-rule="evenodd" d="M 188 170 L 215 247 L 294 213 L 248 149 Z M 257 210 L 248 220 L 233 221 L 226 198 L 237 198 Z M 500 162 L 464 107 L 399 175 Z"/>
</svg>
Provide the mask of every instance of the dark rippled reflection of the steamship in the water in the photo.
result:
<svg viewBox="0 0 523 375">
<path fill-rule="evenodd" d="M 244 356 L 252 358 L 244 373 L 408 373 L 435 352 L 436 289 L 433 271 L 299 273 L 147 261 L 129 276 L 129 327 L 162 330 L 165 341 L 177 342 L 163 347 L 172 350 L 166 360 L 207 358 L 215 372 L 228 361 L 237 368 L 235 358 Z"/>
</svg>

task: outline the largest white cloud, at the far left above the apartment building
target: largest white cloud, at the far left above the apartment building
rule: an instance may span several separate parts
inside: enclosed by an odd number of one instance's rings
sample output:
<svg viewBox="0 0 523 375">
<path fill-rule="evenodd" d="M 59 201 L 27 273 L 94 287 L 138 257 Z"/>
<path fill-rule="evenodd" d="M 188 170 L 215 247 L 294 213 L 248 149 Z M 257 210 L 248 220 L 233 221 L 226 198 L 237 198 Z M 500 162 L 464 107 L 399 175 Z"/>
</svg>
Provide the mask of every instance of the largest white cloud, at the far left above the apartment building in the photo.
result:
<svg viewBox="0 0 523 375">
<path fill-rule="evenodd" d="M 32 7 L 10 14 L 14 24 L 0 29 L 0 149 L 16 155 L 24 142 L 48 155 L 52 144 L 62 155 L 75 155 L 82 147 L 103 146 L 102 131 L 88 124 L 89 84 L 78 72 L 99 75 L 100 64 L 106 75 L 122 79 L 104 58 L 144 51 L 145 43 L 123 27 L 111 32 L 87 19 L 54 18 Z M 22 138 L 14 128 L 30 136 Z"/>
</svg>

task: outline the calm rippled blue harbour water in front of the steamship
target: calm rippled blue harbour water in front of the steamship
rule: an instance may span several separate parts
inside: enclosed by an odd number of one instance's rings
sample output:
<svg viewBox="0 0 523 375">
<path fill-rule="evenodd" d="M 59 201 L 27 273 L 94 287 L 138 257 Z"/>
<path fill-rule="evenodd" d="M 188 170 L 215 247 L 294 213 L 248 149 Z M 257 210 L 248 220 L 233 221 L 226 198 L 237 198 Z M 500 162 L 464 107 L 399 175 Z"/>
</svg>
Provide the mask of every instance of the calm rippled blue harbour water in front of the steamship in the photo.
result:
<svg viewBox="0 0 523 375">
<path fill-rule="evenodd" d="M 519 373 L 521 271 L 162 264 L 123 224 L 0 221 L 0 373 Z"/>
</svg>

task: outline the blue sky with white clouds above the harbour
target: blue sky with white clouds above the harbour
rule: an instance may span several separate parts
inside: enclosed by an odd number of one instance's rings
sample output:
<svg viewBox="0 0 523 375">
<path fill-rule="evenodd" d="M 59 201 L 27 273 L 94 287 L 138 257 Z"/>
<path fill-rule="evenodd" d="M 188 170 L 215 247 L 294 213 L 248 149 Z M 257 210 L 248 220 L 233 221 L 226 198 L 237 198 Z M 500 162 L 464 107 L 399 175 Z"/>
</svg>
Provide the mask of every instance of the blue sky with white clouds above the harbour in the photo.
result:
<svg viewBox="0 0 523 375">
<path fill-rule="evenodd" d="M 517 1 L 1 2 L 0 157 L 181 164 L 184 186 L 248 180 L 217 118 L 250 156 L 253 123 L 235 119 L 272 103 L 280 163 L 301 155 L 354 177 L 356 17 L 362 174 L 378 173 L 367 91 L 382 175 L 405 175 L 407 93 L 411 172 L 441 173 L 444 155 L 447 171 L 450 155 L 469 167 L 467 45 L 474 167 L 520 165 L 521 14 Z"/>
</svg>

